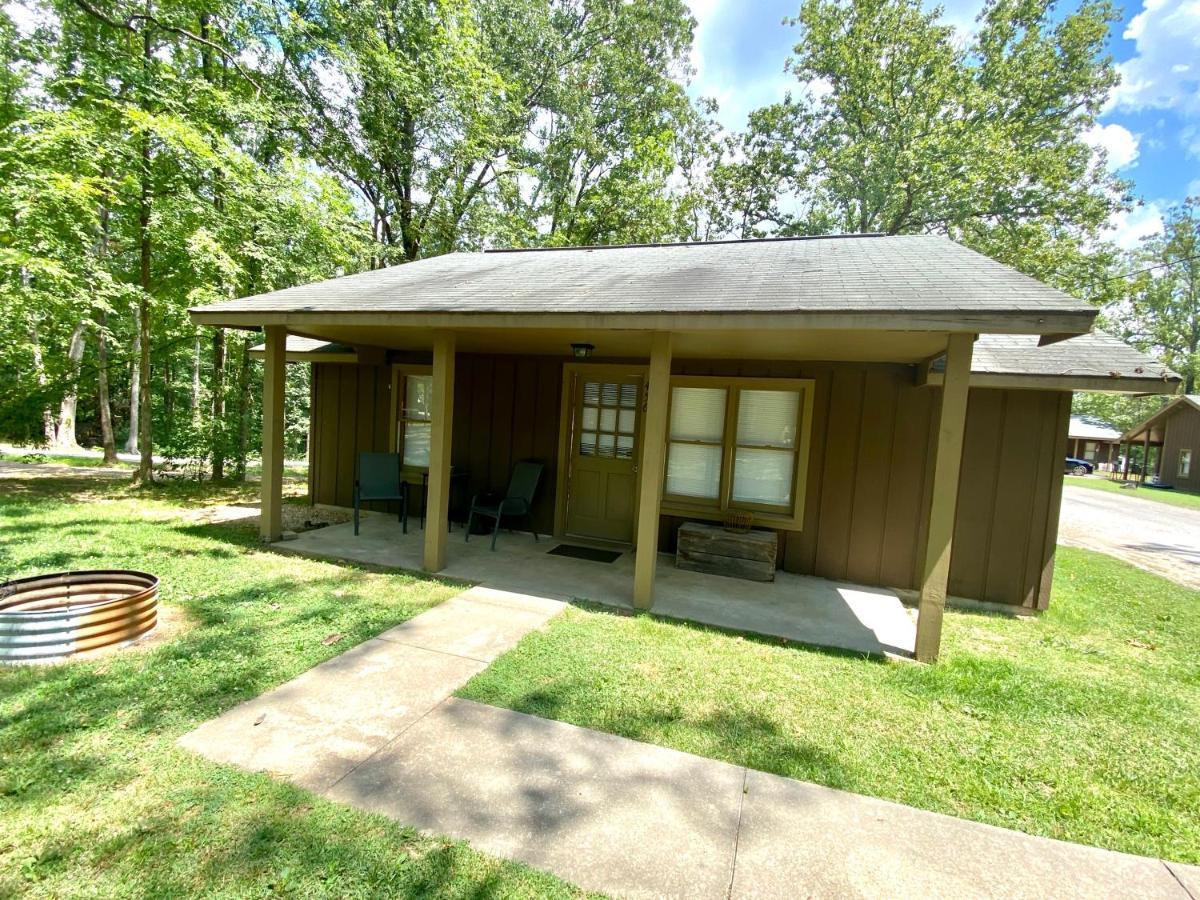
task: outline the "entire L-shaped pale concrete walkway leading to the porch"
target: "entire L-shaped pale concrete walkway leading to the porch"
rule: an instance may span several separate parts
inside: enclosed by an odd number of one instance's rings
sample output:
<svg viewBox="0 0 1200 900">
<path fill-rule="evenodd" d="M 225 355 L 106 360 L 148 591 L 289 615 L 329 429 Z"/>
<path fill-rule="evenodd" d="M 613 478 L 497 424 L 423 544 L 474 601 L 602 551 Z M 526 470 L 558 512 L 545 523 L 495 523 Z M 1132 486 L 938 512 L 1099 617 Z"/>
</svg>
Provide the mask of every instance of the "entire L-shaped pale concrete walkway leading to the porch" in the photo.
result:
<svg viewBox="0 0 1200 900">
<path fill-rule="evenodd" d="M 450 697 L 562 607 L 473 588 L 180 743 L 616 895 L 1200 900 L 1196 868 Z"/>
</svg>

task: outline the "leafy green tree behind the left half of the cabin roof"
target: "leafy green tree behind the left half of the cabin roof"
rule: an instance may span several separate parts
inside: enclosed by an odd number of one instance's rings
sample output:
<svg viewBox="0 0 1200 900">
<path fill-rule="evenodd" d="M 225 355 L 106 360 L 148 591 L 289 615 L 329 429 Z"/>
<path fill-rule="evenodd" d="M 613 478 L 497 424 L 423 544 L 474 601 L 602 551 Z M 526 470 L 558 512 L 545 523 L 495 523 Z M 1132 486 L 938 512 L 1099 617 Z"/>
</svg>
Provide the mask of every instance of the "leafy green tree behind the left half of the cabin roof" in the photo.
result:
<svg viewBox="0 0 1200 900">
<path fill-rule="evenodd" d="M 690 232 L 682 0 L 278 2 L 305 149 L 371 211 L 378 263 Z"/>
</svg>

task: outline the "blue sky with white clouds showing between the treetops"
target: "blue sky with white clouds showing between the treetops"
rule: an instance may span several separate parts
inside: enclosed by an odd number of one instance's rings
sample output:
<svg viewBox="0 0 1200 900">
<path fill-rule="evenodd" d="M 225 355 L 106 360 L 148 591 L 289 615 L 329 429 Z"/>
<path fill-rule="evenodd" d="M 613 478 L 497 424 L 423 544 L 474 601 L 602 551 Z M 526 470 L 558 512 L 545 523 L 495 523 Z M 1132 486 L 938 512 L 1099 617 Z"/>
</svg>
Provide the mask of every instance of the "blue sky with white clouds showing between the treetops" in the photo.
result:
<svg viewBox="0 0 1200 900">
<path fill-rule="evenodd" d="M 720 103 L 721 122 L 745 125 L 749 110 L 794 86 L 784 61 L 797 30 L 784 26 L 799 0 L 689 0 L 698 22 L 690 91 Z M 1072 0 L 1066 0 L 1070 8 Z M 970 31 L 982 4 L 952 0 L 947 22 Z M 1122 74 L 1099 126 L 1088 134 L 1109 166 L 1144 200 L 1111 223 L 1111 236 L 1134 246 L 1162 229 L 1162 215 L 1200 194 L 1200 0 L 1132 0 L 1112 29 L 1110 50 Z"/>
</svg>

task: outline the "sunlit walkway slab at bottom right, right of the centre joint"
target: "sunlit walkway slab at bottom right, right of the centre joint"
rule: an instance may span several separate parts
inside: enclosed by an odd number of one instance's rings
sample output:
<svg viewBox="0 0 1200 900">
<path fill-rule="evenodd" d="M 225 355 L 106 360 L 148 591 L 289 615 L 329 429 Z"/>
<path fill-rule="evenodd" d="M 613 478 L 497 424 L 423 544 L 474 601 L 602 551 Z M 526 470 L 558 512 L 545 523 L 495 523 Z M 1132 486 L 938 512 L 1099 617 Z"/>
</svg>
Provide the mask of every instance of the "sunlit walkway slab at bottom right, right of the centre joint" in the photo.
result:
<svg viewBox="0 0 1200 900">
<path fill-rule="evenodd" d="M 750 770 L 731 896 L 1184 896 L 1158 859 Z"/>
</svg>

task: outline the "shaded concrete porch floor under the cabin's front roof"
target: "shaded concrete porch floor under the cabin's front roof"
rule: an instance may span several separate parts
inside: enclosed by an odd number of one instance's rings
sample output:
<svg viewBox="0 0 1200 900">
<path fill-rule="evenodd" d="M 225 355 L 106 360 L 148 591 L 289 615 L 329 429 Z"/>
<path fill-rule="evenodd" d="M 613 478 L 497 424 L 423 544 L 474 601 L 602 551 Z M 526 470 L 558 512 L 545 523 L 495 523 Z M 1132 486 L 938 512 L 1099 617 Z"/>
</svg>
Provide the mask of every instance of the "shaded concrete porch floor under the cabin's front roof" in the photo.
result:
<svg viewBox="0 0 1200 900">
<path fill-rule="evenodd" d="M 446 563 L 439 575 L 485 587 L 554 600 L 589 600 L 632 610 L 630 584 L 635 554 L 612 563 L 551 554 L 562 541 L 528 533 L 503 533 L 493 553 L 487 536 L 463 541 L 461 527 L 446 535 Z M 359 535 L 352 523 L 300 534 L 276 545 L 305 556 L 346 559 L 419 571 L 425 532 L 415 520 L 403 534 L 395 516 L 365 514 Z M 911 658 L 914 613 L 883 588 L 827 581 L 779 571 L 774 583 L 702 575 L 674 568 L 666 553 L 655 565 L 654 613 L 718 628 L 749 631 L 797 643 Z"/>
</svg>

